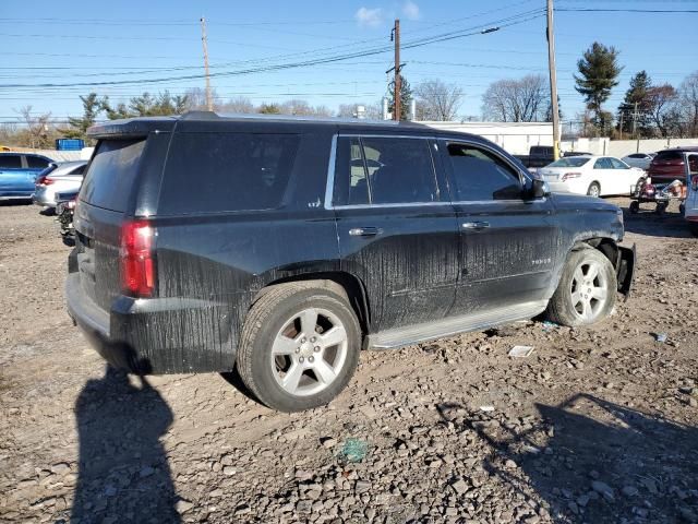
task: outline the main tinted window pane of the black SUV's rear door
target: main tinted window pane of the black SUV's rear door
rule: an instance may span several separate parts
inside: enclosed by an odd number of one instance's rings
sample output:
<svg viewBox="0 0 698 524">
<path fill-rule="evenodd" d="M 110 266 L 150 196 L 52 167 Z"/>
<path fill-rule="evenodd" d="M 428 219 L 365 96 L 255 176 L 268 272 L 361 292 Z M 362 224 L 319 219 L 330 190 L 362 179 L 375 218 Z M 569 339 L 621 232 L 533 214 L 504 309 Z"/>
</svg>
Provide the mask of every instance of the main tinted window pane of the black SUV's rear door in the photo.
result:
<svg viewBox="0 0 698 524">
<path fill-rule="evenodd" d="M 369 170 L 371 203 L 437 202 L 436 176 L 423 139 L 361 139 Z"/>
</svg>

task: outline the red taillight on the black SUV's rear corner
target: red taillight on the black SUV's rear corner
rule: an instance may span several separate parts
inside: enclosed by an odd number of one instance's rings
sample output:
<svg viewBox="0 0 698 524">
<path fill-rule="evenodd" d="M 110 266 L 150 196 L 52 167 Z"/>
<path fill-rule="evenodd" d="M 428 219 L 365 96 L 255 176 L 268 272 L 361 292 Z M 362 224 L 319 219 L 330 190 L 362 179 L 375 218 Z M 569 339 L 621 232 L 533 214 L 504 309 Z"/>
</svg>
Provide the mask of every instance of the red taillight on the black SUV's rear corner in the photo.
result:
<svg viewBox="0 0 698 524">
<path fill-rule="evenodd" d="M 121 226 L 121 286 L 133 297 L 149 297 L 155 290 L 155 229 L 148 221 L 129 221 Z"/>
</svg>

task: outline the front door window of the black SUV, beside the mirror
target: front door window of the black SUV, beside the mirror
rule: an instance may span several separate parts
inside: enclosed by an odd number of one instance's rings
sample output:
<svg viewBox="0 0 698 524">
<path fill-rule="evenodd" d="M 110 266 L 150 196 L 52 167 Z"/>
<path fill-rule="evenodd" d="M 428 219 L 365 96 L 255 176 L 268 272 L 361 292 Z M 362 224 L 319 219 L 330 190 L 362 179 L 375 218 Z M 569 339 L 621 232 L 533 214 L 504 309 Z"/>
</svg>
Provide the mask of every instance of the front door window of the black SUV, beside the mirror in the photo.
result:
<svg viewBox="0 0 698 524">
<path fill-rule="evenodd" d="M 457 201 L 517 200 L 518 174 L 492 153 L 466 144 L 448 144 Z"/>
</svg>

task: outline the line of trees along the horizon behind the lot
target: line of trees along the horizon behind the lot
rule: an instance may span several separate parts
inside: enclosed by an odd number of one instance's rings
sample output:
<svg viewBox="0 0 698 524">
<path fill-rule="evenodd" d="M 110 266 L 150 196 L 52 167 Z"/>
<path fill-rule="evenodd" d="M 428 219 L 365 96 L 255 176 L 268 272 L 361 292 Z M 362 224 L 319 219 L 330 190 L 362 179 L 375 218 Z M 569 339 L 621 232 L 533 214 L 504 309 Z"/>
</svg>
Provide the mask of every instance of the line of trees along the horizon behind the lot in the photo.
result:
<svg viewBox="0 0 698 524">
<path fill-rule="evenodd" d="M 580 123 L 578 134 L 613 139 L 698 136 L 698 71 L 690 73 L 677 86 L 655 84 L 646 71 L 639 71 L 631 78 L 617 109 L 610 111 L 605 104 L 618 85 L 618 76 L 624 69 L 618 57 L 619 51 L 613 46 L 594 41 L 577 61 L 575 90 L 585 100 L 585 110 L 575 120 Z M 393 83 L 388 84 L 387 93 L 388 111 L 392 112 L 395 107 Z M 438 79 L 420 82 L 412 88 L 402 76 L 398 96 L 402 120 L 409 118 L 414 99 L 417 120 L 453 121 L 459 119 L 465 93 L 458 84 Z M 542 74 L 497 80 L 482 95 L 482 119 L 497 122 L 552 121 L 550 98 L 547 78 Z M 167 91 L 144 93 L 118 104 L 97 93 L 89 93 L 80 99 L 83 115 L 69 117 L 68 124 L 62 127 L 53 123 L 50 114 L 33 116 L 31 106 L 16 110 L 22 126 L 0 127 L 0 144 L 50 147 L 52 140 L 58 136 L 86 139 L 87 129 L 104 119 L 179 115 L 206 109 L 205 92 L 200 87 L 190 88 L 184 95 L 170 95 Z M 254 105 L 244 96 L 225 100 L 215 90 L 213 106 L 219 112 L 318 117 L 357 117 L 357 106 L 363 106 L 363 116 L 370 119 L 380 119 L 383 112 L 380 100 L 339 104 L 336 110 L 332 110 L 327 106 L 313 106 L 298 98 L 260 105 Z M 465 117 L 460 119 L 465 120 Z"/>
</svg>

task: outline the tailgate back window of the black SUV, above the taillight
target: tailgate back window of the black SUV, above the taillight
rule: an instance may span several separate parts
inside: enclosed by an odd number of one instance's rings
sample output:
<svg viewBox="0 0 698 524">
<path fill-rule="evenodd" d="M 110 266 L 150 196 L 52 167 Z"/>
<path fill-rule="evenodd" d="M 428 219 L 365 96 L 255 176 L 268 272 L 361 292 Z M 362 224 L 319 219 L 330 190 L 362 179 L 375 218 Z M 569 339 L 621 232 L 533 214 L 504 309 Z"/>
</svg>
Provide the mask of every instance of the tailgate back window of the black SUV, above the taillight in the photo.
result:
<svg viewBox="0 0 698 524">
<path fill-rule="evenodd" d="M 80 200 L 124 212 L 139 169 L 145 139 L 100 142 L 89 164 Z"/>
</svg>

